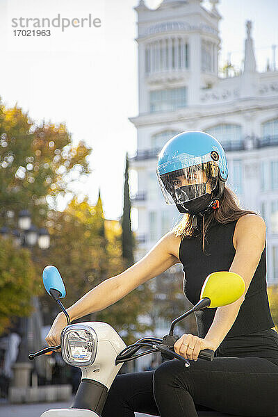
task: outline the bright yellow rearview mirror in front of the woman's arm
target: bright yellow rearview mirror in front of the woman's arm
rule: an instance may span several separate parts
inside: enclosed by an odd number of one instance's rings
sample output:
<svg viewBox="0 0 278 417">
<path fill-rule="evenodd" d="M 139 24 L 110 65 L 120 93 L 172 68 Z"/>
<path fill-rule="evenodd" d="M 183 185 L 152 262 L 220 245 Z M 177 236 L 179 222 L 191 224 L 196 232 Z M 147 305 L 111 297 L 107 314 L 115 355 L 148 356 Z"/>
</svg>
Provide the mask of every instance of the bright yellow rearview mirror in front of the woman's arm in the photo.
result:
<svg viewBox="0 0 278 417">
<path fill-rule="evenodd" d="M 213 272 L 206 277 L 200 299 L 209 298 L 209 309 L 227 306 L 238 300 L 245 291 L 245 281 L 235 272 Z"/>
</svg>

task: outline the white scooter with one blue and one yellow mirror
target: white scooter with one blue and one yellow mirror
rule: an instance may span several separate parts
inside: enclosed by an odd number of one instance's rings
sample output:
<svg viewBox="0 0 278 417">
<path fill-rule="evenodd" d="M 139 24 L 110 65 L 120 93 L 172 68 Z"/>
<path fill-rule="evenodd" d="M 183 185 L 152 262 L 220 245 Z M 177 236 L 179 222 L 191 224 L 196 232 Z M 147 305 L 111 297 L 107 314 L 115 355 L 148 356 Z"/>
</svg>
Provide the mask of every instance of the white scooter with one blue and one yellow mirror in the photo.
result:
<svg viewBox="0 0 278 417">
<path fill-rule="evenodd" d="M 61 349 L 62 357 L 71 366 L 81 368 L 82 377 L 70 408 L 50 409 L 40 417 L 101 417 L 108 391 L 123 363 L 146 354 L 160 352 L 166 359 L 183 361 L 186 367 L 190 361 L 174 352 L 174 343 L 179 336 L 174 326 L 194 311 L 224 306 L 238 300 L 245 291 L 245 282 L 234 272 L 213 272 L 202 286 L 200 300 L 192 309 L 172 321 L 169 334 L 163 338 L 144 337 L 126 346 L 113 327 L 104 322 L 82 322 L 71 324 L 70 316 L 60 298 L 65 297 L 65 285 L 60 272 L 48 265 L 42 273 L 44 288 L 59 304 L 67 317 L 67 326 L 60 336 L 60 345 L 47 347 L 28 355 L 30 360 L 52 350 Z M 137 353 L 147 347 L 148 350 Z M 214 351 L 204 349 L 200 359 L 212 361 Z"/>
</svg>

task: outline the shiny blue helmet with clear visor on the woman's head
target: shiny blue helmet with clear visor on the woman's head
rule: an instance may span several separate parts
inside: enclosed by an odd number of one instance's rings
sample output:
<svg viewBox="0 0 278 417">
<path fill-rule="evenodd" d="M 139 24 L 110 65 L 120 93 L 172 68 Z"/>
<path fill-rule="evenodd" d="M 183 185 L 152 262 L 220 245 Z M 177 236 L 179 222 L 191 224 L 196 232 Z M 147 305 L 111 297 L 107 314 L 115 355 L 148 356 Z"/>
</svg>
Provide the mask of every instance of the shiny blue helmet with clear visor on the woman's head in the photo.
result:
<svg viewBox="0 0 278 417">
<path fill-rule="evenodd" d="M 227 158 L 208 133 L 182 132 L 161 150 L 156 173 L 167 204 L 176 204 L 181 213 L 202 214 L 215 208 L 224 191 Z"/>
</svg>

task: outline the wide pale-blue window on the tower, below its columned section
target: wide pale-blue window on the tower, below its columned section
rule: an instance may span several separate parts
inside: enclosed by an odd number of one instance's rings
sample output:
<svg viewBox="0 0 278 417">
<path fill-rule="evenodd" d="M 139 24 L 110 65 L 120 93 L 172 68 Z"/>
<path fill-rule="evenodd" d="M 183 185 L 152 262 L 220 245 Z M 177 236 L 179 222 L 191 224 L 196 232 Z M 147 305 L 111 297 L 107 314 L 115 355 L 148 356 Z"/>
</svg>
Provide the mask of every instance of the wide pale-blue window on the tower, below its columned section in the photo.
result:
<svg viewBox="0 0 278 417">
<path fill-rule="evenodd" d="M 149 111 L 174 111 L 186 107 L 186 87 L 154 90 L 149 93 Z"/>
</svg>

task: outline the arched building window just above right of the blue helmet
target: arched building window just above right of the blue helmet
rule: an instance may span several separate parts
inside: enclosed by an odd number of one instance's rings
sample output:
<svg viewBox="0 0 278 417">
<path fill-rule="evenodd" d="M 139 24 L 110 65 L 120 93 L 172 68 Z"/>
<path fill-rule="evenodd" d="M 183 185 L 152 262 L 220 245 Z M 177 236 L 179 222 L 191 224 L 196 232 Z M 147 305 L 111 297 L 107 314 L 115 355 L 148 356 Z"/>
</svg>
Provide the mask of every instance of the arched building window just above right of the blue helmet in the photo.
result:
<svg viewBox="0 0 278 417">
<path fill-rule="evenodd" d="M 209 129 L 206 133 L 214 136 L 227 151 L 242 149 L 243 137 L 241 126 L 238 124 L 218 124 Z"/>
</svg>

